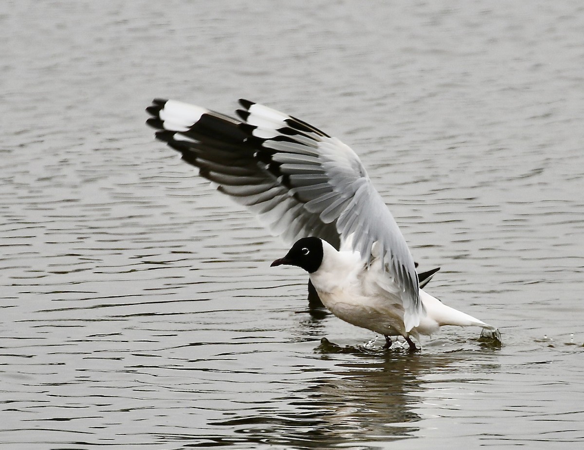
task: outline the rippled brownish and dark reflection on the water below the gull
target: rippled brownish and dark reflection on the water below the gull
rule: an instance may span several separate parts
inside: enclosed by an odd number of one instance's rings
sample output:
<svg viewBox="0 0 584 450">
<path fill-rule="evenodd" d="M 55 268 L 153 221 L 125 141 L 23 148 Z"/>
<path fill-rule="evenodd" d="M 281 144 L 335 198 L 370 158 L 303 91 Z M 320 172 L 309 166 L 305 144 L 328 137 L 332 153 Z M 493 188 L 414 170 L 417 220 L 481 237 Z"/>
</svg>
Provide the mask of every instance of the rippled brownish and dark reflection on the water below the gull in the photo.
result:
<svg viewBox="0 0 584 450">
<path fill-rule="evenodd" d="M 374 448 L 375 441 L 412 437 L 420 420 L 415 406 L 419 401 L 416 392 L 425 389 L 422 377 L 449 370 L 456 359 L 452 354 L 411 354 L 379 347 L 340 348 L 328 341 L 316 352 L 326 359 L 338 356 L 335 370 L 315 372 L 307 365 L 307 373 L 318 375 L 299 382 L 300 389 L 274 398 L 265 408 L 256 408 L 252 417 L 212 425 L 236 428 L 248 444 L 329 448 L 361 442 Z M 354 358 L 339 355 L 348 352 Z M 274 402 L 279 406 L 274 407 Z"/>
</svg>

